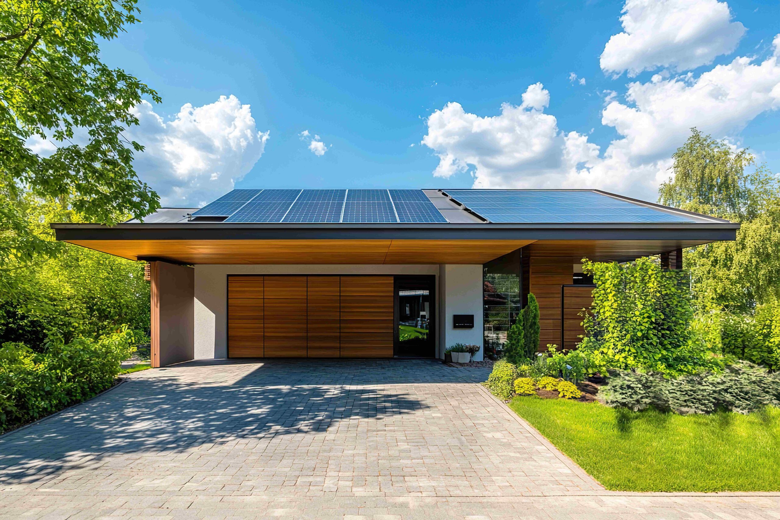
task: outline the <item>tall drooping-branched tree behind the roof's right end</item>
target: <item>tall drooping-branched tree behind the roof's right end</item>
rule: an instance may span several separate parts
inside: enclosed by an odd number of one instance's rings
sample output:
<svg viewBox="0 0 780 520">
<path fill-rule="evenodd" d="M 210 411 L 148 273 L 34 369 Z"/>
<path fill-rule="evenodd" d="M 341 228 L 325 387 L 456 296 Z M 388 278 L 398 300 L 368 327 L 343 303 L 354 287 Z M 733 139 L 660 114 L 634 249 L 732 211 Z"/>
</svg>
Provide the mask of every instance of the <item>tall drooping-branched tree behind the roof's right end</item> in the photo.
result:
<svg viewBox="0 0 780 520">
<path fill-rule="evenodd" d="M 756 166 L 747 150 L 732 150 L 695 128 L 673 157 L 674 178 L 661 186 L 661 203 L 742 225 L 735 242 L 686 249 L 696 306 L 751 313 L 757 304 L 778 297 L 778 176 L 764 165 Z"/>
</svg>

